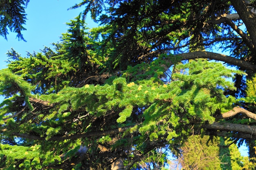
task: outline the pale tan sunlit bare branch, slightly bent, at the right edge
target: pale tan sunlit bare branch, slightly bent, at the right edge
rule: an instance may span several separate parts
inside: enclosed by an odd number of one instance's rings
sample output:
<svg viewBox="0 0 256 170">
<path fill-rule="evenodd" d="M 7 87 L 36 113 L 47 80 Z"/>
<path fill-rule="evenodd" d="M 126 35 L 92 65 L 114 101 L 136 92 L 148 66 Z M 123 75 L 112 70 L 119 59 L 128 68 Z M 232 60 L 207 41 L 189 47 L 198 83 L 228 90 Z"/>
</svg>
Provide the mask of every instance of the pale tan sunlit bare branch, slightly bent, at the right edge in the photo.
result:
<svg viewBox="0 0 256 170">
<path fill-rule="evenodd" d="M 242 114 L 251 119 L 256 120 L 256 114 L 254 114 L 248 110 L 245 110 L 244 108 L 240 108 L 240 107 L 234 107 L 232 110 L 229 110 L 226 113 L 222 113 L 221 115 L 218 115 L 216 117 L 216 119 L 227 119 L 227 118 L 234 117 L 237 114 Z"/>
</svg>

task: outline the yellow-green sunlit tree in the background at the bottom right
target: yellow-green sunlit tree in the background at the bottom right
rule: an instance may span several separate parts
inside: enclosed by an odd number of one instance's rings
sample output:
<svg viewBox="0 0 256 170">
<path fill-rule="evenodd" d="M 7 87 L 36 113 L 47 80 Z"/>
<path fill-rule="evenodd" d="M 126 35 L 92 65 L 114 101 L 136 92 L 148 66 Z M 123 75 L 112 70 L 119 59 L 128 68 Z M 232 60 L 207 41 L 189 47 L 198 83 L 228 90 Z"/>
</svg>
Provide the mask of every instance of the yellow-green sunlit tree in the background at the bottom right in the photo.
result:
<svg viewBox="0 0 256 170">
<path fill-rule="evenodd" d="M 240 170 L 246 162 L 236 144 L 223 137 L 189 137 L 178 157 L 185 170 Z"/>
</svg>

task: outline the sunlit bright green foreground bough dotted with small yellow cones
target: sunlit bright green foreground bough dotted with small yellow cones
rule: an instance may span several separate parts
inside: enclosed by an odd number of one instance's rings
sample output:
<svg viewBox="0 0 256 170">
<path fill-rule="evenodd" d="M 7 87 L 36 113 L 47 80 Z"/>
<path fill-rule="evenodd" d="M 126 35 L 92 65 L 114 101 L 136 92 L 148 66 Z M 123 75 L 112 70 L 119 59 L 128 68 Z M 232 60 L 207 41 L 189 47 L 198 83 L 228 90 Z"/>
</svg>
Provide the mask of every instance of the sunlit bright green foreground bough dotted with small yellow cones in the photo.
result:
<svg viewBox="0 0 256 170">
<path fill-rule="evenodd" d="M 152 66 L 149 66 L 149 68 L 155 70 L 159 67 L 158 65 L 155 66 L 156 68 L 154 66 L 153 62 Z M 58 141 L 58 138 L 55 139 L 54 136 L 62 136 L 65 135 L 65 133 L 76 136 L 85 134 L 86 132 L 93 132 L 95 129 L 107 130 L 110 126 L 112 128 L 124 127 L 124 123 L 129 124 L 130 121 L 133 121 L 132 117 L 134 117 L 135 108 L 146 107 L 142 115 L 138 115 L 141 118 L 143 117 L 143 123 L 134 126 L 130 131 L 141 135 L 135 137 L 133 140 L 133 144 L 136 145 L 136 148 L 141 150 L 141 152 L 147 153 L 148 151 L 146 150 L 151 145 L 151 141 L 161 140 L 167 140 L 168 144 L 173 146 L 173 149 L 178 148 L 190 133 L 191 119 L 201 123 L 204 121 L 213 121 L 214 118 L 212 115 L 215 111 L 221 108 L 231 108 L 232 104 L 230 102 L 234 100 L 232 98 L 226 98 L 219 90 L 220 88 L 233 88 L 230 82 L 221 78 L 222 76 L 231 76 L 231 72 L 222 66 L 222 64 L 198 61 L 186 65 L 177 65 L 177 68 L 181 71 L 186 69 L 191 71 L 185 74 L 182 72 L 174 74 L 173 77 L 177 80 L 167 85 L 160 84 L 160 80 L 155 81 L 155 79 L 150 77 L 149 79 L 137 80 L 136 84 L 134 82 L 127 83 L 125 78 L 120 77 L 114 79 L 112 85 L 85 85 L 81 88 L 69 87 L 64 88 L 58 93 L 41 95 L 40 99 L 45 101 L 49 100 L 52 104 L 58 104 L 58 106 L 56 105 L 56 107 L 51 110 L 46 108 L 49 112 L 45 112 L 46 110 L 43 112 L 37 109 L 33 110 L 32 113 L 37 115 L 36 117 L 38 117 L 38 119 L 31 119 L 32 117 L 25 116 L 25 114 L 22 113 L 22 117 L 20 117 L 19 120 L 19 129 L 25 133 L 33 132 L 37 134 L 38 139 L 40 139 L 40 137 L 45 139 L 44 145 L 47 146 L 47 149 L 45 148 L 46 151 L 53 150 L 54 148 L 52 147 L 56 144 L 61 146 L 61 150 L 54 149 L 55 152 L 61 154 L 67 152 L 69 145 L 76 140 L 71 139 L 61 142 Z M 138 68 L 135 67 L 133 70 L 137 72 Z M 213 75 L 220 77 L 220 79 L 204 79 L 205 82 L 201 82 L 202 79 L 197 78 L 209 76 L 211 70 L 215 73 Z M 216 72 L 214 70 L 222 71 Z M 194 74 L 195 72 L 197 74 Z M 136 74 L 133 73 L 133 75 Z M 2 79 L 2 82 L 6 84 L 4 79 Z M 19 85 L 18 87 L 23 89 L 22 86 Z M 13 101 L 13 99 L 11 97 L 8 98 L 10 102 Z M 204 101 L 204 103 L 202 103 L 202 101 Z M 22 102 L 22 100 L 20 102 Z M 9 107 L 13 107 L 13 104 L 8 105 L 8 103 L 6 103 L 6 106 L 2 110 L 2 116 L 4 118 L 4 110 Z M 108 117 L 111 112 L 118 113 L 118 115 L 115 115 L 116 118 L 113 121 L 109 120 L 109 122 L 106 121 L 104 124 L 101 124 L 100 120 L 103 117 Z M 83 115 L 80 115 L 81 113 L 83 113 Z M 76 117 L 78 119 L 75 121 L 74 119 Z M 180 119 L 180 117 L 182 117 L 182 119 Z M 73 121 L 70 121 L 72 119 Z M 96 122 L 91 121 L 93 119 L 95 119 Z M 136 118 L 134 117 L 133 119 Z M 9 128 L 13 128 L 17 120 L 8 120 Z M 139 117 L 137 121 L 141 121 Z M 165 123 L 159 126 L 161 121 Z M 27 124 L 27 122 L 31 124 Z M 197 126 L 199 125 L 200 124 Z M 83 127 L 87 128 L 84 129 Z M 8 126 L 4 126 L 4 128 L 8 129 Z M 16 131 L 17 130 L 16 128 Z M 7 130 L 7 132 L 9 133 L 10 131 Z M 144 134 L 150 135 L 144 136 Z M 120 141 L 122 146 L 123 142 L 127 143 L 130 140 L 129 138 L 126 139 L 126 136 L 124 137 L 125 140 Z M 89 144 L 92 140 L 93 138 L 91 137 L 88 139 L 85 138 L 83 142 Z M 142 142 L 145 140 L 147 142 Z M 100 142 L 102 143 L 102 141 Z M 111 142 L 111 138 L 106 141 L 107 144 Z M 115 143 L 118 146 L 118 142 Z M 79 146 L 80 145 L 78 145 L 78 147 Z M 65 147 L 65 149 L 63 147 Z M 114 149 L 115 145 L 112 147 L 112 149 Z M 128 145 L 126 147 L 130 148 L 132 146 Z M 49 151 L 47 152 L 49 154 L 51 153 Z M 68 153 L 70 154 L 71 151 Z"/>
</svg>

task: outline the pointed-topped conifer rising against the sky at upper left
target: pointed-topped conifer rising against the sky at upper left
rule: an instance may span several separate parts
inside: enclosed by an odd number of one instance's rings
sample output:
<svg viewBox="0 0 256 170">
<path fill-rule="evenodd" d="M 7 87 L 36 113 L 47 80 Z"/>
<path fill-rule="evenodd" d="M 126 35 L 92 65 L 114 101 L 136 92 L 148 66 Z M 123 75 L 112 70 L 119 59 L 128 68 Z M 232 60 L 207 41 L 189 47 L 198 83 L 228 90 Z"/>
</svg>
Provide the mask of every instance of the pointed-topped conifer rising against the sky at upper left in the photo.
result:
<svg viewBox="0 0 256 170">
<path fill-rule="evenodd" d="M 61 43 L 53 43 L 54 50 L 45 47 L 42 53 L 30 53 L 29 57 L 9 51 L 9 58 L 15 59 L 9 69 L 36 84 L 34 93 L 56 93 L 66 86 L 82 86 L 91 81 L 86 77 L 98 75 L 103 61 L 94 54 L 96 42 L 85 32 L 80 16 L 75 19 L 67 23 L 70 29 L 63 33 Z"/>
</svg>

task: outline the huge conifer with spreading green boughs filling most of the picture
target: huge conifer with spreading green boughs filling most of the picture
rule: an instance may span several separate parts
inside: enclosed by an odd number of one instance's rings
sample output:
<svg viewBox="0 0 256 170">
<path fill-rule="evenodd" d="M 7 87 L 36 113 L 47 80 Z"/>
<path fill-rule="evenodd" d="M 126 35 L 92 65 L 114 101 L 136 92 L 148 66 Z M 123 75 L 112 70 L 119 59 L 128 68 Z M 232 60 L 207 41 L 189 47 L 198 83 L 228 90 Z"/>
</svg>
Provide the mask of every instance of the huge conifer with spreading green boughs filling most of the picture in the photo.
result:
<svg viewBox="0 0 256 170">
<path fill-rule="evenodd" d="M 72 8 L 81 6 L 101 26 L 87 30 L 81 14 L 53 49 L 8 53 L 3 169 L 158 168 L 168 161 L 156 159 L 159 148 L 178 155 L 191 135 L 245 141 L 254 157 L 254 1 L 85 0 Z M 217 47 L 230 56 L 211 52 Z"/>
</svg>

